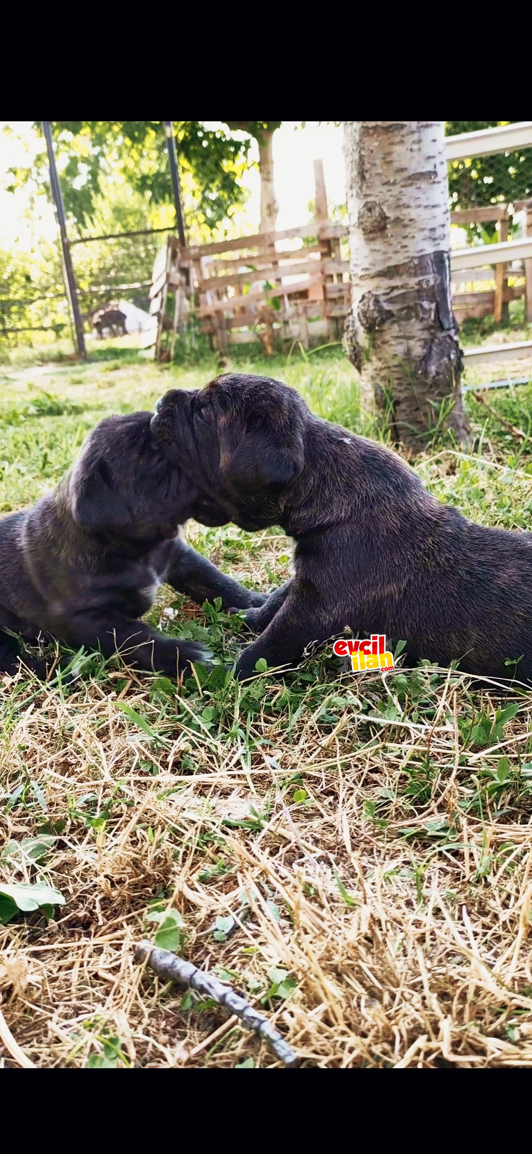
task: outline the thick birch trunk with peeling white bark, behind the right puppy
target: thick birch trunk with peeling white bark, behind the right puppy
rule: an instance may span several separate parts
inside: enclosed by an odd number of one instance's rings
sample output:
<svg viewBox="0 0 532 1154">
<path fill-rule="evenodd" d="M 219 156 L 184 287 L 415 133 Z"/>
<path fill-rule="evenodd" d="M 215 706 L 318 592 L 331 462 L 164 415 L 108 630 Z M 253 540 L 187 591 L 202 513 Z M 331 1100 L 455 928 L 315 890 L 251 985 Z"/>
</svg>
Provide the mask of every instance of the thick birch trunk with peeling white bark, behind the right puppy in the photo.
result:
<svg viewBox="0 0 532 1154">
<path fill-rule="evenodd" d="M 394 441 L 410 452 L 442 426 L 463 443 L 443 121 L 345 121 L 344 155 L 344 349 L 360 374 L 363 405 L 386 410 Z"/>
</svg>

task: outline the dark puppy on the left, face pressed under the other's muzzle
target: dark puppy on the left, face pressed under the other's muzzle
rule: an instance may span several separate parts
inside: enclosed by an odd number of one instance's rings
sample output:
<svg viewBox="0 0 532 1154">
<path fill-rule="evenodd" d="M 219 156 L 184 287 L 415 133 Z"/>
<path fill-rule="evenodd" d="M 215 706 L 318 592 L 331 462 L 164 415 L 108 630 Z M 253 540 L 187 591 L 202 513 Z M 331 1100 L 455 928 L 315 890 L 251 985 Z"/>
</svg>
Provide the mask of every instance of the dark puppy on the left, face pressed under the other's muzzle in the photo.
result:
<svg viewBox="0 0 532 1154">
<path fill-rule="evenodd" d="M 18 667 L 8 629 L 98 643 L 106 657 L 120 650 L 137 668 L 175 676 L 206 652 L 138 620 L 161 582 L 198 602 L 221 597 L 225 608 L 265 600 L 184 541 L 188 517 L 222 525 L 227 514 L 169 463 L 150 420 L 151 413 L 131 413 L 101 421 L 50 496 L 0 519 L 0 670 Z M 43 675 L 43 662 L 24 661 Z"/>
</svg>

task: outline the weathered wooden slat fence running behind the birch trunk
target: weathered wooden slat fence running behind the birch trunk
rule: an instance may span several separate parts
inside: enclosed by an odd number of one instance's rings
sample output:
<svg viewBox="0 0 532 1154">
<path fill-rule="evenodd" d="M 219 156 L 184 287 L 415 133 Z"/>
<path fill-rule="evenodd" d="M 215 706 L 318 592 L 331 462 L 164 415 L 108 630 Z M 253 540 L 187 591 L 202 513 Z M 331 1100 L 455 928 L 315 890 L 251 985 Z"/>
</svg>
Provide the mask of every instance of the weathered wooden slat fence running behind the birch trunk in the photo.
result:
<svg viewBox="0 0 532 1154">
<path fill-rule="evenodd" d="M 532 123 L 449 137 L 447 149 L 453 156 L 469 156 L 471 148 L 479 153 L 501 151 L 510 136 L 527 143 Z M 165 327 L 172 328 L 173 346 L 188 310 L 221 353 L 228 345 L 249 342 L 261 342 L 269 353 L 280 339 L 307 349 L 311 342 L 341 338 L 350 308 L 348 227 L 328 217 L 321 160 L 314 160 L 314 181 L 317 212 L 311 224 L 188 248 L 168 239 L 151 288 L 158 355 L 164 355 Z M 514 205 L 519 210 L 525 212 L 525 235 L 510 241 L 506 204 L 451 212 L 453 224 L 497 223 L 500 234 L 494 245 L 451 250 L 458 323 L 489 313 L 502 321 L 510 300 L 519 297 L 525 297 L 525 316 L 532 322 L 532 200 Z M 172 323 L 166 320 L 168 291 L 175 294 Z"/>
</svg>

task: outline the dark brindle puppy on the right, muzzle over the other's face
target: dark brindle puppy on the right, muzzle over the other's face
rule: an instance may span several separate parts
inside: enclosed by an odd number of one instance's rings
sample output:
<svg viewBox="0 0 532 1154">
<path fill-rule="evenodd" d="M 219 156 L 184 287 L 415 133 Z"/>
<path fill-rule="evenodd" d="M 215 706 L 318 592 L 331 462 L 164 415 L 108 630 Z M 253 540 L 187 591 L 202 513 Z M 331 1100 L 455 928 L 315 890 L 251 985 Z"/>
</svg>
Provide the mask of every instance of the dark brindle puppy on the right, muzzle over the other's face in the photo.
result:
<svg viewBox="0 0 532 1154">
<path fill-rule="evenodd" d="M 296 540 L 294 580 L 245 614 L 264 631 L 240 677 L 349 627 L 406 640 L 411 662 L 532 680 L 532 534 L 466 520 L 394 452 L 319 420 L 280 381 L 172 390 L 152 428 L 237 525 L 281 525 Z"/>
</svg>

